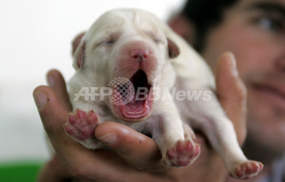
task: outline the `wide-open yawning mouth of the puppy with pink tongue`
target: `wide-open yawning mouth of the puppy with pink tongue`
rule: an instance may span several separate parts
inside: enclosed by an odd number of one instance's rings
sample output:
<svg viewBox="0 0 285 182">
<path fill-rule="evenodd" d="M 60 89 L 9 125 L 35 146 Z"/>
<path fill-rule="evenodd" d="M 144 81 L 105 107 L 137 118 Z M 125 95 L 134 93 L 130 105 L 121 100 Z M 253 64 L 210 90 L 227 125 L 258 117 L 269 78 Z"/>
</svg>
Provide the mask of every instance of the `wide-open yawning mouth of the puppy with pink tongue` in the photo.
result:
<svg viewBox="0 0 285 182">
<path fill-rule="evenodd" d="M 114 90 L 120 97 L 120 105 L 113 105 L 113 108 L 117 114 L 127 120 L 145 118 L 152 109 L 152 90 L 147 75 L 143 70 L 138 70 L 130 78 L 130 82 Z M 122 88 L 125 90 L 122 91 Z"/>
</svg>

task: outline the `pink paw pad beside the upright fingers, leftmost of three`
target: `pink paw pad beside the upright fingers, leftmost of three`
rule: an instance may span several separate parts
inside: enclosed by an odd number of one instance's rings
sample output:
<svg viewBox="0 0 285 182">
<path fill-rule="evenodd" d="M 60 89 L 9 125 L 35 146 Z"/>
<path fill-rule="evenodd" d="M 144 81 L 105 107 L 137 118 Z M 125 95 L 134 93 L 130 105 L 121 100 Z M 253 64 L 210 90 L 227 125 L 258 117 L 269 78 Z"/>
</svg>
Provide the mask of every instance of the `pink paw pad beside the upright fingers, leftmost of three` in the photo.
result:
<svg viewBox="0 0 285 182">
<path fill-rule="evenodd" d="M 63 127 L 71 137 L 85 140 L 94 136 L 94 130 L 98 124 L 98 116 L 93 110 L 86 113 L 76 109 L 75 113 L 68 114 L 68 121 Z"/>
</svg>

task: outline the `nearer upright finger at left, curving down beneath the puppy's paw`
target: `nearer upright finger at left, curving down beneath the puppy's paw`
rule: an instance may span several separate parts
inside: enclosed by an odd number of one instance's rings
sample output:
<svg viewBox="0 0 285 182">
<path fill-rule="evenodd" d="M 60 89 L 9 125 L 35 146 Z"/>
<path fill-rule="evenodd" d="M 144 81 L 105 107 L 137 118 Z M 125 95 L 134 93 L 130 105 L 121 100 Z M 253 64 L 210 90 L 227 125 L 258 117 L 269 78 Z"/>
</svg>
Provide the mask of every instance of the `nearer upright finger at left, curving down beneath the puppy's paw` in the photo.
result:
<svg viewBox="0 0 285 182">
<path fill-rule="evenodd" d="M 92 151 L 73 141 L 63 131 L 67 111 L 50 87 L 39 86 L 33 91 L 43 127 L 69 173 L 77 178 L 95 180 L 122 178 L 128 174 L 138 173 L 111 151 Z"/>
</svg>

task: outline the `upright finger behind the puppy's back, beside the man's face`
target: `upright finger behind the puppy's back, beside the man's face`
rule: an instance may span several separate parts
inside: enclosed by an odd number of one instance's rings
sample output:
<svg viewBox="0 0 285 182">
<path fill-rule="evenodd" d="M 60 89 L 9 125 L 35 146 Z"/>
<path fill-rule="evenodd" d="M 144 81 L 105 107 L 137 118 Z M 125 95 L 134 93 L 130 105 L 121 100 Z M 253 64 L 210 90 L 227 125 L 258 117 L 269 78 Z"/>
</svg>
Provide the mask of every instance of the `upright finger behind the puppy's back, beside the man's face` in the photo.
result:
<svg viewBox="0 0 285 182">
<path fill-rule="evenodd" d="M 247 133 L 247 90 L 238 75 L 236 60 L 232 53 L 224 53 L 219 58 L 216 85 L 219 101 L 234 124 L 239 144 L 242 144 Z"/>
</svg>

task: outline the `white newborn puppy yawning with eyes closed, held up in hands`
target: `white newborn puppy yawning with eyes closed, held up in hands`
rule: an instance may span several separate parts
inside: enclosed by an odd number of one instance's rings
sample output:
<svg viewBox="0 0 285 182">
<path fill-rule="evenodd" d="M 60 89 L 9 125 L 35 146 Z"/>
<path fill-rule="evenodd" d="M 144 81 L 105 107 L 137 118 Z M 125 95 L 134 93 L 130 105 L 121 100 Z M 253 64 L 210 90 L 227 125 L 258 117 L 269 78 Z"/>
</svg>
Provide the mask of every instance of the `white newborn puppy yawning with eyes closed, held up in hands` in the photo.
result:
<svg viewBox="0 0 285 182">
<path fill-rule="evenodd" d="M 263 168 L 239 148 L 232 122 L 212 94 L 207 64 L 152 14 L 103 14 L 81 39 L 73 66 L 68 86 L 74 110 L 64 128 L 88 149 L 103 148 L 95 127 L 116 121 L 151 136 L 166 165 L 187 166 L 200 151 L 192 126 L 207 135 L 234 178 L 250 178 Z"/>
</svg>

